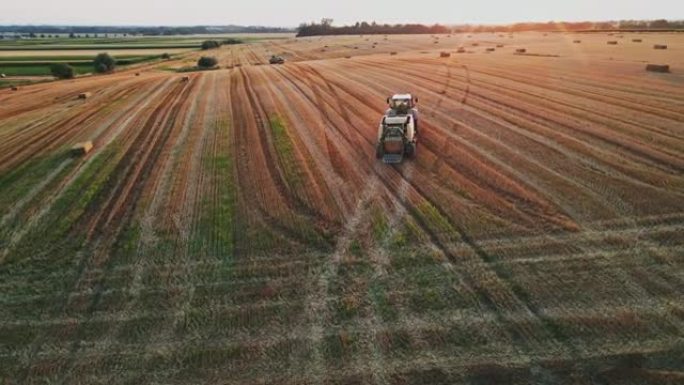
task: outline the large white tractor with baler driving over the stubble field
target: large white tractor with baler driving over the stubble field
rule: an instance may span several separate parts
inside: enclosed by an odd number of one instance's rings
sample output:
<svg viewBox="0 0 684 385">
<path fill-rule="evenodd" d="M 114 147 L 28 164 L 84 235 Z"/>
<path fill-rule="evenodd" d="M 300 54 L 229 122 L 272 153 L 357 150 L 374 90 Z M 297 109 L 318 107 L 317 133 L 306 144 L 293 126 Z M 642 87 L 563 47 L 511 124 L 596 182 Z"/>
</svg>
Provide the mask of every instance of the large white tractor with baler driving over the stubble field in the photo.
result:
<svg viewBox="0 0 684 385">
<path fill-rule="evenodd" d="M 386 164 L 401 163 L 404 157 L 413 158 L 418 144 L 417 98 L 411 94 L 396 94 L 387 99 L 385 111 L 378 126 L 378 143 L 375 156 Z"/>
</svg>

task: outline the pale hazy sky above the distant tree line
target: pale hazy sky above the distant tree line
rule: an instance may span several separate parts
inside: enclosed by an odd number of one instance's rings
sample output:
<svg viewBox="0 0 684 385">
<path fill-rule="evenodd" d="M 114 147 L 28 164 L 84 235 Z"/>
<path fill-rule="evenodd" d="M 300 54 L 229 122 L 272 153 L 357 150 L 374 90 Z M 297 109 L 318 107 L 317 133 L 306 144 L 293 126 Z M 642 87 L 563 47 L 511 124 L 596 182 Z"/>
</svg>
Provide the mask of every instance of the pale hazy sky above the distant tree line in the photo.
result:
<svg viewBox="0 0 684 385">
<path fill-rule="evenodd" d="M 0 24 L 297 26 L 331 17 L 389 23 L 684 19 L 684 0 L 3 0 Z"/>
</svg>

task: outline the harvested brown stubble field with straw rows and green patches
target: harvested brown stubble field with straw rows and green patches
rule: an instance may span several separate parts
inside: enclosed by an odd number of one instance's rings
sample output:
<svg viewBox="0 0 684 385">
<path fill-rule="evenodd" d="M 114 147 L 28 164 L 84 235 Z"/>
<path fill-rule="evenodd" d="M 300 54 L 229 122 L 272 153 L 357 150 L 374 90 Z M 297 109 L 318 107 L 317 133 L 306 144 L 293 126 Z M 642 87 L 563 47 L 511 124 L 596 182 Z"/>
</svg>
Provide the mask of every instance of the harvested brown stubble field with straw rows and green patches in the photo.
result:
<svg viewBox="0 0 684 385">
<path fill-rule="evenodd" d="M 0 90 L 0 383 L 681 383 L 684 36 L 623 35 Z M 420 144 L 387 166 L 398 91 Z"/>
</svg>

